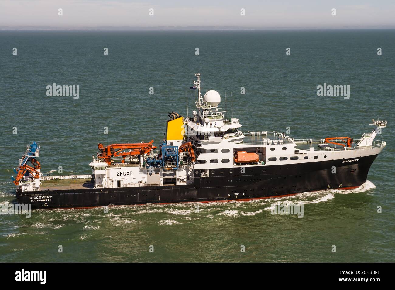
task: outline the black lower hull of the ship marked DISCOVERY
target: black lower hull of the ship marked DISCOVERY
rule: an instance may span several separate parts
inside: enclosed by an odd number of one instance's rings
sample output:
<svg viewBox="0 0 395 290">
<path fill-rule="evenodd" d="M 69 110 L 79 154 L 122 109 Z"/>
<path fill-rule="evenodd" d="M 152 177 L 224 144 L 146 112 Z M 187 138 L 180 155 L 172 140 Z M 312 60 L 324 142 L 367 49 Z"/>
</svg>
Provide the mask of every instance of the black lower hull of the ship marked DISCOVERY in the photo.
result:
<svg viewBox="0 0 395 290">
<path fill-rule="evenodd" d="M 350 189 L 363 184 L 377 155 L 359 157 L 354 162 L 329 160 L 314 163 L 275 166 L 223 168 L 210 170 L 210 177 L 201 177 L 194 170 L 191 185 L 76 189 L 17 192 L 19 204 L 32 208 L 89 208 L 108 205 L 147 203 L 211 202 L 250 200 L 293 195 L 325 189 Z M 336 173 L 332 173 L 332 167 Z M 214 172 L 213 172 L 214 171 Z M 32 201 L 33 196 L 51 196 Z"/>
</svg>

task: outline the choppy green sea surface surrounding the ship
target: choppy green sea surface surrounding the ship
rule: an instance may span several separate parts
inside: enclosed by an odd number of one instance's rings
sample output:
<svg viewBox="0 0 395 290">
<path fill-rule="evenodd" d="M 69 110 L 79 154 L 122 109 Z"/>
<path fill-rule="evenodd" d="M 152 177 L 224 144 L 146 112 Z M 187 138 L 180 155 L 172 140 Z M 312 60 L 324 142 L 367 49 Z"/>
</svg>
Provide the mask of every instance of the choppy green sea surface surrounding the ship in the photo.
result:
<svg viewBox="0 0 395 290">
<path fill-rule="evenodd" d="M 10 175 L 32 141 L 45 174 L 90 174 L 99 142 L 159 144 L 167 112 L 196 109 L 198 71 L 242 131 L 359 138 L 388 121 L 358 189 L 0 215 L 0 261 L 395 262 L 394 68 L 395 30 L 0 31 L 1 204 L 15 201 Z M 79 98 L 47 96 L 54 82 Z M 350 85 L 350 98 L 317 96 L 324 83 Z M 277 201 L 303 203 L 303 218 L 272 215 Z"/>
</svg>

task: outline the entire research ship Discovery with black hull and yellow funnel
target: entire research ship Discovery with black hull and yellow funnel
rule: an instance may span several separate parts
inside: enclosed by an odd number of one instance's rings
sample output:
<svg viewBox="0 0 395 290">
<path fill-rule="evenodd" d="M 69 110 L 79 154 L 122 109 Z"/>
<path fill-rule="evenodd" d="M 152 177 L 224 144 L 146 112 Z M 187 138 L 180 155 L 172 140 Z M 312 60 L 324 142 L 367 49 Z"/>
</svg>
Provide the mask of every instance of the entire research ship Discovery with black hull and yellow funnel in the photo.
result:
<svg viewBox="0 0 395 290">
<path fill-rule="evenodd" d="M 37 158 L 41 146 L 26 146 L 11 177 L 19 204 L 33 208 L 90 208 L 129 204 L 248 201 L 307 191 L 353 189 L 367 180 L 372 162 L 386 146 L 374 129 L 351 137 L 294 139 L 276 131 L 241 131 L 226 118 L 214 90 L 201 94 L 183 117 L 169 112 L 165 138 L 140 143 L 99 143 L 88 176 L 44 176 Z M 82 178 L 79 178 L 82 177 Z M 85 178 L 84 178 L 85 177 Z M 58 179 L 56 180 L 48 179 Z"/>
</svg>

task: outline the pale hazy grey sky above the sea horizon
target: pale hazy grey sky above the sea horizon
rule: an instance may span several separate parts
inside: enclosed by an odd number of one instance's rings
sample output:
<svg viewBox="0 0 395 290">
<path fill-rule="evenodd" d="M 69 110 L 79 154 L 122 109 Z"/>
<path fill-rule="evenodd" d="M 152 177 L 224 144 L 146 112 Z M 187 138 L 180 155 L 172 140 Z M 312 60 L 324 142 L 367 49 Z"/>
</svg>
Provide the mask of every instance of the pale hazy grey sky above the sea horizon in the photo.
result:
<svg viewBox="0 0 395 290">
<path fill-rule="evenodd" d="M 395 28 L 395 0 L 0 0 L 0 29 L 102 26 Z"/>
</svg>

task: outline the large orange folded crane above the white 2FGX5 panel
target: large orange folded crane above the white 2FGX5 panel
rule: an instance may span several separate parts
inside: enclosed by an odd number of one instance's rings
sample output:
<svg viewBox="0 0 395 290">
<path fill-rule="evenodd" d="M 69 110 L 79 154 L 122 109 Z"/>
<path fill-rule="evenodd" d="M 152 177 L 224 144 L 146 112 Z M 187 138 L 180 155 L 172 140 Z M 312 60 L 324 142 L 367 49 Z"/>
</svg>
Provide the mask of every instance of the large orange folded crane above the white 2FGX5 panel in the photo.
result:
<svg viewBox="0 0 395 290">
<path fill-rule="evenodd" d="M 107 146 L 99 143 L 98 149 L 101 153 L 98 153 L 98 158 L 102 158 L 104 162 L 111 164 L 111 157 L 123 157 L 122 163 L 124 163 L 127 156 L 147 154 L 156 149 L 156 146 L 152 146 L 152 143 L 154 143 L 154 140 L 148 143 L 120 143 Z"/>
</svg>

